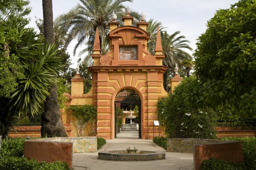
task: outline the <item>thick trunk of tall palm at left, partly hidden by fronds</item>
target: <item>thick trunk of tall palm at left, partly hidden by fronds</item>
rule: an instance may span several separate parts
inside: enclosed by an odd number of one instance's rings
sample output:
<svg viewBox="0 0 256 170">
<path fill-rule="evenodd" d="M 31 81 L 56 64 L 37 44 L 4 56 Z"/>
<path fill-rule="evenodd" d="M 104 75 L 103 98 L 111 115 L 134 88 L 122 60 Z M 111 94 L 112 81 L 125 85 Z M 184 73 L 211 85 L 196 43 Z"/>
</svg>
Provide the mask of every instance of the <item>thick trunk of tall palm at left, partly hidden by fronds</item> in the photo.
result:
<svg viewBox="0 0 256 170">
<path fill-rule="evenodd" d="M 54 43 L 52 0 L 42 0 L 43 2 L 43 23 L 44 35 L 47 43 Z M 54 58 L 53 58 L 54 59 Z M 62 124 L 59 113 L 59 102 L 57 85 L 53 84 L 50 89 L 50 96 L 45 101 L 45 112 L 42 114 L 41 122 L 42 137 L 67 137 L 65 127 Z"/>
</svg>

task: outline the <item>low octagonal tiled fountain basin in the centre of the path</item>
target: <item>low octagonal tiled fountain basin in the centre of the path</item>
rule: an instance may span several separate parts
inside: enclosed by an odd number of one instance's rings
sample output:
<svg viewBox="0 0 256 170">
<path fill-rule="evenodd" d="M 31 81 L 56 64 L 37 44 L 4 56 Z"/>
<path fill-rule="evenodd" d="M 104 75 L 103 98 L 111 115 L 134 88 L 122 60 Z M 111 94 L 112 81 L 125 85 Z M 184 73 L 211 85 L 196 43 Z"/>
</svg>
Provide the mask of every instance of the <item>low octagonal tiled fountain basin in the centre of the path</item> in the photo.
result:
<svg viewBox="0 0 256 170">
<path fill-rule="evenodd" d="M 100 151 L 98 159 L 107 161 L 154 161 L 165 159 L 165 153 L 161 151 L 137 151 L 137 153 L 127 153 L 126 150 Z"/>
</svg>

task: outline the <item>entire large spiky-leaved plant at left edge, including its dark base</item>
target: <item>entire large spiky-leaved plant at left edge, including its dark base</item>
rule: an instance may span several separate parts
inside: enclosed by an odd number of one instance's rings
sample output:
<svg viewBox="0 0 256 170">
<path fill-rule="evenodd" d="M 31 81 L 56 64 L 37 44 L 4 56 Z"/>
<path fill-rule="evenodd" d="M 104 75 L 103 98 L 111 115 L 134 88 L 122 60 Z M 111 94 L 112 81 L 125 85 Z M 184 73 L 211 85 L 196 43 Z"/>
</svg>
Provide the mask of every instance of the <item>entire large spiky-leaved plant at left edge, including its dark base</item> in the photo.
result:
<svg viewBox="0 0 256 170">
<path fill-rule="evenodd" d="M 15 125 L 15 117 L 23 113 L 33 116 L 39 112 L 41 104 L 50 94 L 52 83 L 57 83 L 62 58 L 56 55 L 57 48 L 54 45 L 43 44 L 33 28 L 24 28 L 15 23 L 0 29 L 0 34 L 10 35 L 0 41 L 0 53 L 8 52 L 3 53 L 4 56 L 0 54 L 0 58 L 10 57 L 14 60 L 14 63 L 5 61 L 0 64 L 9 67 L 4 67 L 0 77 L 4 77 L 6 72 L 13 73 L 14 83 L 17 84 L 10 95 L 0 98 L 0 135 L 6 136 Z M 8 78 L 6 81 L 8 85 Z M 2 85 L 0 92 L 3 90 Z"/>
</svg>

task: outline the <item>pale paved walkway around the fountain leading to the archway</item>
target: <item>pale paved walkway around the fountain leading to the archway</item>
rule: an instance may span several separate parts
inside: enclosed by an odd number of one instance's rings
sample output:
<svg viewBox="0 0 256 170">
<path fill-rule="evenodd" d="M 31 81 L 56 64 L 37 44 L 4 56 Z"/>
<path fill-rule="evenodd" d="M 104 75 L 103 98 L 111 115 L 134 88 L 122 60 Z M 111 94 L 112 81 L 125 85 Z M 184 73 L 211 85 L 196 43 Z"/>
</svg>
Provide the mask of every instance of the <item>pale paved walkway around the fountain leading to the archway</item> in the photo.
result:
<svg viewBox="0 0 256 170">
<path fill-rule="evenodd" d="M 131 144 L 138 150 L 163 151 L 166 158 L 156 161 L 105 161 L 97 159 L 100 151 L 125 150 Z M 193 170 L 193 168 L 193 153 L 166 152 L 152 140 L 138 139 L 135 132 L 118 133 L 116 139 L 107 140 L 107 143 L 97 152 L 73 154 L 74 170 Z"/>
</svg>

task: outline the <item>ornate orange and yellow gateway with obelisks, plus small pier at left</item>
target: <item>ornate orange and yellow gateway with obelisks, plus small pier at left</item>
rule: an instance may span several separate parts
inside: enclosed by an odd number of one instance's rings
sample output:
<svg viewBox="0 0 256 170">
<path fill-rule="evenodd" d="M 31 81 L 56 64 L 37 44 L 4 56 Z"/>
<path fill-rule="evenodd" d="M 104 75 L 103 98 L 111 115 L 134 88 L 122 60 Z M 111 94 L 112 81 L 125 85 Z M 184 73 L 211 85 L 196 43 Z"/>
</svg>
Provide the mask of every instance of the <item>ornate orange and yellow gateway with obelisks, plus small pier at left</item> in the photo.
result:
<svg viewBox="0 0 256 170">
<path fill-rule="evenodd" d="M 158 119 L 156 102 L 167 95 L 163 87 L 163 73 L 167 68 L 162 65 L 164 55 L 160 33 L 158 30 L 155 55 L 151 55 L 147 52 L 148 23 L 143 16 L 137 26 L 132 26 L 133 17 L 126 10 L 124 26 L 118 27 L 114 15 L 109 22 L 110 50 L 105 55 L 100 53 L 99 33 L 96 30 L 91 55 L 94 64 L 88 68 L 92 73 L 92 88 L 88 94 L 83 94 L 83 80 L 77 74 L 71 80 L 70 104 L 95 106 L 98 116 L 92 130 L 98 137 L 105 139 L 115 138 L 115 106 L 137 104 L 140 138 L 152 139 L 153 120 Z"/>
</svg>

